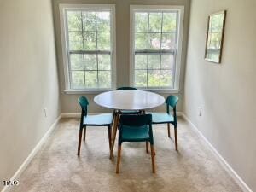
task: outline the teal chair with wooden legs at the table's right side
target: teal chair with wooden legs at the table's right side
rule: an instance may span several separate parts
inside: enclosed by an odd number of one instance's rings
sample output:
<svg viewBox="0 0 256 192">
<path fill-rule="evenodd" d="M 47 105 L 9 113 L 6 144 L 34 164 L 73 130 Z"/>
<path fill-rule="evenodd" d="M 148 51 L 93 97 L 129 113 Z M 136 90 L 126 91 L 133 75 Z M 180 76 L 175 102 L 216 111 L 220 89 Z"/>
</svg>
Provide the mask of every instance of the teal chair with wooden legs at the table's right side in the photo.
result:
<svg viewBox="0 0 256 192">
<path fill-rule="evenodd" d="M 176 113 L 177 102 L 178 102 L 177 96 L 168 96 L 166 98 L 166 113 L 151 113 L 152 124 L 167 124 L 168 137 L 171 137 L 170 124 L 173 125 L 176 150 L 177 150 L 177 113 Z M 170 108 L 172 108 L 173 113 L 170 113 Z"/>
</svg>

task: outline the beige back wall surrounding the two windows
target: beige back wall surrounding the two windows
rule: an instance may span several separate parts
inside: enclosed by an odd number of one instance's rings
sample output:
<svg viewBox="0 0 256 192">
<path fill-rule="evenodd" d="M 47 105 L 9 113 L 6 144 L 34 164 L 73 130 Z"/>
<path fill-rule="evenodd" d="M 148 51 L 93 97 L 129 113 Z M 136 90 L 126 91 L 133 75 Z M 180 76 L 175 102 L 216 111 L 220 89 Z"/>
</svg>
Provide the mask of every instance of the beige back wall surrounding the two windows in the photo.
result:
<svg viewBox="0 0 256 192">
<path fill-rule="evenodd" d="M 60 3 L 84 3 L 84 4 L 115 4 L 116 11 L 116 75 L 117 83 L 116 86 L 129 86 L 129 71 L 130 71 L 130 5 L 131 4 L 142 4 L 142 5 L 183 5 L 185 9 L 184 13 L 184 24 L 183 24 L 183 52 L 181 61 L 181 79 L 180 89 L 181 91 L 177 94 L 180 101 L 177 105 L 177 110 L 182 109 L 183 104 L 183 77 L 184 67 L 186 61 L 186 49 L 187 49 L 187 33 L 189 26 L 189 3 L 190 0 L 53 0 L 54 4 L 54 15 L 55 15 L 55 39 L 57 46 L 58 55 L 58 66 L 60 74 L 60 87 L 61 87 L 61 112 L 62 113 L 80 113 L 78 104 L 79 96 L 67 95 L 64 93 L 65 82 L 64 82 L 64 69 L 62 61 L 62 49 L 61 49 L 61 28 L 60 28 Z M 168 96 L 170 93 L 161 94 L 162 96 Z M 101 108 L 93 102 L 96 94 L 85 95 L 90 102 L 90 112 L 107 112 L 108 109 Z M 161 106 L 155 110 L 166 110 L 166 106 Z"/>
</svg>

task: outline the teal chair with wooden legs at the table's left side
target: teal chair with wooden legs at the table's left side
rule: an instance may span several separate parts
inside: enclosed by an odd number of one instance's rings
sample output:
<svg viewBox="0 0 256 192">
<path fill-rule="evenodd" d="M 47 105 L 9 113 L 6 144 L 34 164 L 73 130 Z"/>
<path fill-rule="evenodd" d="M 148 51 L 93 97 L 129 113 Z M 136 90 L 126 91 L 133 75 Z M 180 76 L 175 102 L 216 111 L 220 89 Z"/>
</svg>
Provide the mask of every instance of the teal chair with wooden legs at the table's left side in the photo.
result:
<svg viewBox="0 0 256 192">
<path fill-rule="evenodd" d="M 108 127 L 108 144 L 109 150 L 111 149 L 111 139 L 112 139 L 112 124 L 113 124 L 113 114 L 112 113 L 102 113 L 89 115 L 87 106 L 89 105 L 88 100 L 85 96 L 80 96 L 78 99 L 81 111 L 81 119 L 79 126 L 79 146 L 78 146 L 78 155 L 80 154 L 82 135 L 84 131 L 84 141 L 86 135 L 86 127 L 87 126 L 107 126 Z"/>
</svg>

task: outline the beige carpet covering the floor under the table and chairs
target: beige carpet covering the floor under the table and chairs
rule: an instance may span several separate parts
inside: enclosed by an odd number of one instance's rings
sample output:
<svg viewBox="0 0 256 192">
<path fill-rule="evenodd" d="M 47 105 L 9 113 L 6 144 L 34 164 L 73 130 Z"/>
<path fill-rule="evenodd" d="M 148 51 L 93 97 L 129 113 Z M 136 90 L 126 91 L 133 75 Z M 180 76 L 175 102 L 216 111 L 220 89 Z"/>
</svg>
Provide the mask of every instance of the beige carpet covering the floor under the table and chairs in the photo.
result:
<svg viewBox="0 0 256 192">
<path fill-rule="evenodd" d="M 11 191 L 241 191 L 189 125 L 178 119 L 179 153 L 167 137 L 166 125 L 154 126 L 156 173 L 151 172 L 145 143 L 124 143 L 119 175 L 109 160 L 108 131 L 104 127 L 87 129 L 78 157 L 79 119 L 62 119 L 18 179 Z M 172 130 L 173 136 L 173 130 Z"/>
</svg>

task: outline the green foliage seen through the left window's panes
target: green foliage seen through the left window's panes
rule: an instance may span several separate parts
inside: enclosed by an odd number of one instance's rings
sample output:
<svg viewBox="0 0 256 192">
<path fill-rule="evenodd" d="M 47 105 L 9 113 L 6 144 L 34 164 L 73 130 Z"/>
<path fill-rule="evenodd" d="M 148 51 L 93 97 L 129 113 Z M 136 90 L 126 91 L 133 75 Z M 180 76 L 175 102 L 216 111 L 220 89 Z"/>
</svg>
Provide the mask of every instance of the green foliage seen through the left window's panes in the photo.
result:
<svg viewBox="0 0 256 192">
<path fill-rule="evenodd" d="M 67 10 L 71 89 L 110 89 L 111 12 Z"/>
</svg>

